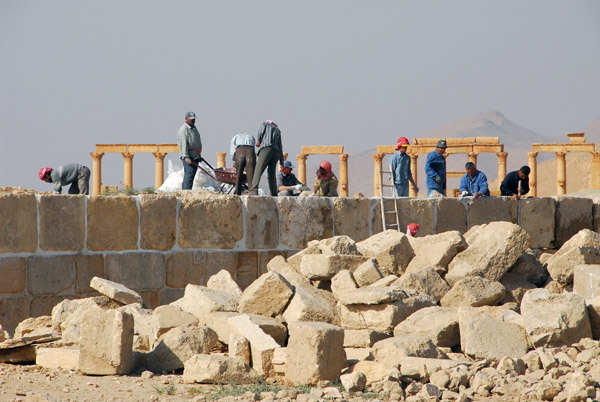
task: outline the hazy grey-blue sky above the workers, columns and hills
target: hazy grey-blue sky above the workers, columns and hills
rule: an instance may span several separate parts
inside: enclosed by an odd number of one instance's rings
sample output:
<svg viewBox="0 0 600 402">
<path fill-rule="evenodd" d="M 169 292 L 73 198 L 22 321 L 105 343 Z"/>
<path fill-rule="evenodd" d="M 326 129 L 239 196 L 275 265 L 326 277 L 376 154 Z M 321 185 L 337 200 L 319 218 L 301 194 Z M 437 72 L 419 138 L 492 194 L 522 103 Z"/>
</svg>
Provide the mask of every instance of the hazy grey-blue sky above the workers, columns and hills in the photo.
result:
<svg viewBox="0 0 600 402">
<path fill-rule="evenodd" d="M 266 119 L 296 155 L 487 109 L 557 137 L 600 117 L 600 1 L 0 0 L 0 187 L 51 190 L 39 168 L 91 168 L 97 143 L 173 143 L 188 110 L 216 164 Z"/>
</svg>

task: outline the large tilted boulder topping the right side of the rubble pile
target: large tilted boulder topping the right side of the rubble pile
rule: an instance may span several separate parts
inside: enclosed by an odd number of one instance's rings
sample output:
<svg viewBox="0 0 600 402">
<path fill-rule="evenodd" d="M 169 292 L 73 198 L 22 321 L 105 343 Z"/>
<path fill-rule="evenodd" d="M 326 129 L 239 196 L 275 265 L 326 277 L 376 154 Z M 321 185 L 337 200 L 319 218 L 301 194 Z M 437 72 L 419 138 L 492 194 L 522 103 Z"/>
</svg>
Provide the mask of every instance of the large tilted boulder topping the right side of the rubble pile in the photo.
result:
<svg viewBox="0 0 600 402">
<path fill-rule="evenodd" d="M 518 225 L 489 223 L 472 242 L 467 240 L 469 248 L 454 257 L 444 279 L 450 286 L 469 276 L 498 281 L 525 253 L 528 241 L 529 235 Z"/>
</svg>

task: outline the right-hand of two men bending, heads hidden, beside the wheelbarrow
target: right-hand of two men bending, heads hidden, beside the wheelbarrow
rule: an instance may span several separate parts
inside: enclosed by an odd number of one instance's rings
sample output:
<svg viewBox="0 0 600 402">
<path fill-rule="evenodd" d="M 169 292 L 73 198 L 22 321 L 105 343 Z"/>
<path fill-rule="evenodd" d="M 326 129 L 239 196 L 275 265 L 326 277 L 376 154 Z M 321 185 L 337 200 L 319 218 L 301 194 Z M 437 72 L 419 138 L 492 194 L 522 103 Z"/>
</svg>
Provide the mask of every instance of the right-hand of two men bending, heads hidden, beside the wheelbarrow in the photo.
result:
<svg viewBox="0 0 600 402">
<path fill-rule="evenodd" d="M 263 122 L 258 130 L 256 146 L 258 147 L 258 160 L 256 161 L 250 194 L 258 194 L 260 177 L 267 169 L 269 191 L 272 196 L 276 197 L 278 191 L 275 171 L 277 162 L 283 165 L 283 146 L 281 145 L 281 130 L 275 122 L 271 120 Z"/>
</svg>

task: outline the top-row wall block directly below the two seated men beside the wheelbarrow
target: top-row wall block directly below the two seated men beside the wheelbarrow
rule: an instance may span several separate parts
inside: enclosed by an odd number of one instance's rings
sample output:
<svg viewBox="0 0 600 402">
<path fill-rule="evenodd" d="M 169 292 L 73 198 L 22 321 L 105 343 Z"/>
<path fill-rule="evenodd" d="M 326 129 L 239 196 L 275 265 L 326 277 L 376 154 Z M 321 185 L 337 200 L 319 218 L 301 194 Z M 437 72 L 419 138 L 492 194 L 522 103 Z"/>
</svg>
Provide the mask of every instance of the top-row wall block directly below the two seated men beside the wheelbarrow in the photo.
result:
<svg viewBox="0 0 600 402">
<path fill-rule="evenodd" d="M 290 248 L 333 235 L 333 206 L 328 197 L 280 197 L 279 238 Z"/>
</svg>

